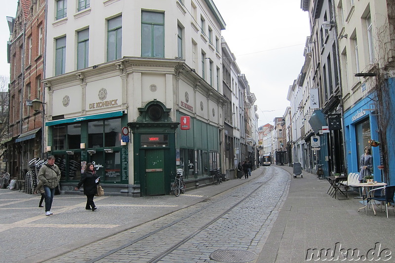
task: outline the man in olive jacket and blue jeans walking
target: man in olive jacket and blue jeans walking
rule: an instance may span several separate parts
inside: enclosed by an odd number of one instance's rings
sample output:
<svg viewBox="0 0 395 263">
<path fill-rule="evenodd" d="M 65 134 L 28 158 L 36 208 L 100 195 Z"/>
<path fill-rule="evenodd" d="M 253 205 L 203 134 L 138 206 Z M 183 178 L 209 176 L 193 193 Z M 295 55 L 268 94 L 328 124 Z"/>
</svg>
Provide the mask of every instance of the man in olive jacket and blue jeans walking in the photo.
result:
<svg viewBox="0 0 395 263">
<path fill-rule="evenodd" d="M 53 215 L 51 212 L 53 196 L 55 188 L 59 184 L 60 170 L 55 164 L 55 157 L 50 155 L 47 157 L 48 162 L 41 166 L 37 178 L 41 181 L 44 188 L 45 200 L 45 216 Z"/>
</svg>

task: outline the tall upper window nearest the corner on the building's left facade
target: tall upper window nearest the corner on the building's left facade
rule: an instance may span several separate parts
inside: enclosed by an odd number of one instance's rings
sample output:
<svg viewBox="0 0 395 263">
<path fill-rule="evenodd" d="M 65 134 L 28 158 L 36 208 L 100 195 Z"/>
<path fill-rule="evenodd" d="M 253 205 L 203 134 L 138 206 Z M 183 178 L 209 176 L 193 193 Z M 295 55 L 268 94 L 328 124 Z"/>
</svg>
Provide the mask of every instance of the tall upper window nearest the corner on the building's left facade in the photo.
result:
<svg viewBox="0 0 395 263">
<path fill-rule="evenodd" d="M 121 58 L 122 16 L 107 21 L 107 61 Z"/>
</svg>

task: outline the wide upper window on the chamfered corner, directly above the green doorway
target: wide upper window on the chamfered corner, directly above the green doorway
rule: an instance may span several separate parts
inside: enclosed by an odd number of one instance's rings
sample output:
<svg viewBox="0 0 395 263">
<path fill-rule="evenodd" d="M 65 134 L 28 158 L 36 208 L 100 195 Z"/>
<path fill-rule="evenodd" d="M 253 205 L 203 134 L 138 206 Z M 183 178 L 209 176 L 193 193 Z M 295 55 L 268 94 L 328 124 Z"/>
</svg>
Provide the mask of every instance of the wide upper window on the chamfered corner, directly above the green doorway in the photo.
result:
<svg viewBox="0 0 395 263">
<path fill-rule="evenodd" d="M 141 56 L 164 57 L 164 13 L 141 12 Z"/>
</svg>

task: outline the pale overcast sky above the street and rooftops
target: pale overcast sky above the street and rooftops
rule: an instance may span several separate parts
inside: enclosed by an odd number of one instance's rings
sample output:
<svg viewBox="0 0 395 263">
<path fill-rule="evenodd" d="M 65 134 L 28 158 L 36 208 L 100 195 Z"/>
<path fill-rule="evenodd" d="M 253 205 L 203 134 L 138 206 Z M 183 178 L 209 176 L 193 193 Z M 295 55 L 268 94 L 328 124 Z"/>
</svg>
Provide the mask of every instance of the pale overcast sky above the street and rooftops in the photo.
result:
<svg viewBox="0 0 395 263">
<path fill-rule="evenodd" d="M 9 76 L 6 16 L 14 17 L 18 0 L 0 8 L 0 75 Z M 273 124 L 289 106 L 289 85 L 302 69 L 310 34 L 308 13 L 300 0 L 214 0 L 226 23 L 222 35 L 257 98 L 258 124 Z"/>
</svg>

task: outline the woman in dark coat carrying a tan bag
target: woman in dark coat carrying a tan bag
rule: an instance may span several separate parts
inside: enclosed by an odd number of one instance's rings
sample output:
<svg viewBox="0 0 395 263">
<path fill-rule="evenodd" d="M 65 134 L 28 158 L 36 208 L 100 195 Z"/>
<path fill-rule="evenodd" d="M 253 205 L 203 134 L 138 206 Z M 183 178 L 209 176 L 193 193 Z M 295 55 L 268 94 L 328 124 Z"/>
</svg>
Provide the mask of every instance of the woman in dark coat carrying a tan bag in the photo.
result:
<svg viewBox="0 0 395 263">
<path fill-rule="evenodd" d="M 83 194 L 86 195 L 86 205 L 85 209 L 95 211 L 97 207 L 93 202 L 93 196 L 97 193 L 97 185 L 99 184 L 100 179 L 95 173 L 95 168 L 93 164 L 90 162 L 86 165 L 86 169 L 82 174 L 81 181 L 79 181 L 76 191 L 83 185 Z"/>
</svg>

